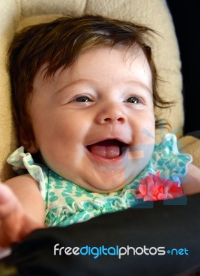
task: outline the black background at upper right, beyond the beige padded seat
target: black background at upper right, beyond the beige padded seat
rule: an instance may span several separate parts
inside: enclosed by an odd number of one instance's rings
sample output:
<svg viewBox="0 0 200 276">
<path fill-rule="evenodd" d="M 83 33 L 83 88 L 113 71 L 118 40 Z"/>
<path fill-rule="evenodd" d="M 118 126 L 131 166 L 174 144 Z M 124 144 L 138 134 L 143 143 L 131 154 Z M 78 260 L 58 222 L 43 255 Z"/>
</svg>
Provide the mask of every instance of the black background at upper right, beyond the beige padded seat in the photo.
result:
<svg viewBox="0 0 200 276">
<path fill-rule="evenodd" d="M 167 3 L 181 54 L 186 135 L 200 130 L 200 1 L 167 0 Z"/>
</svg>

